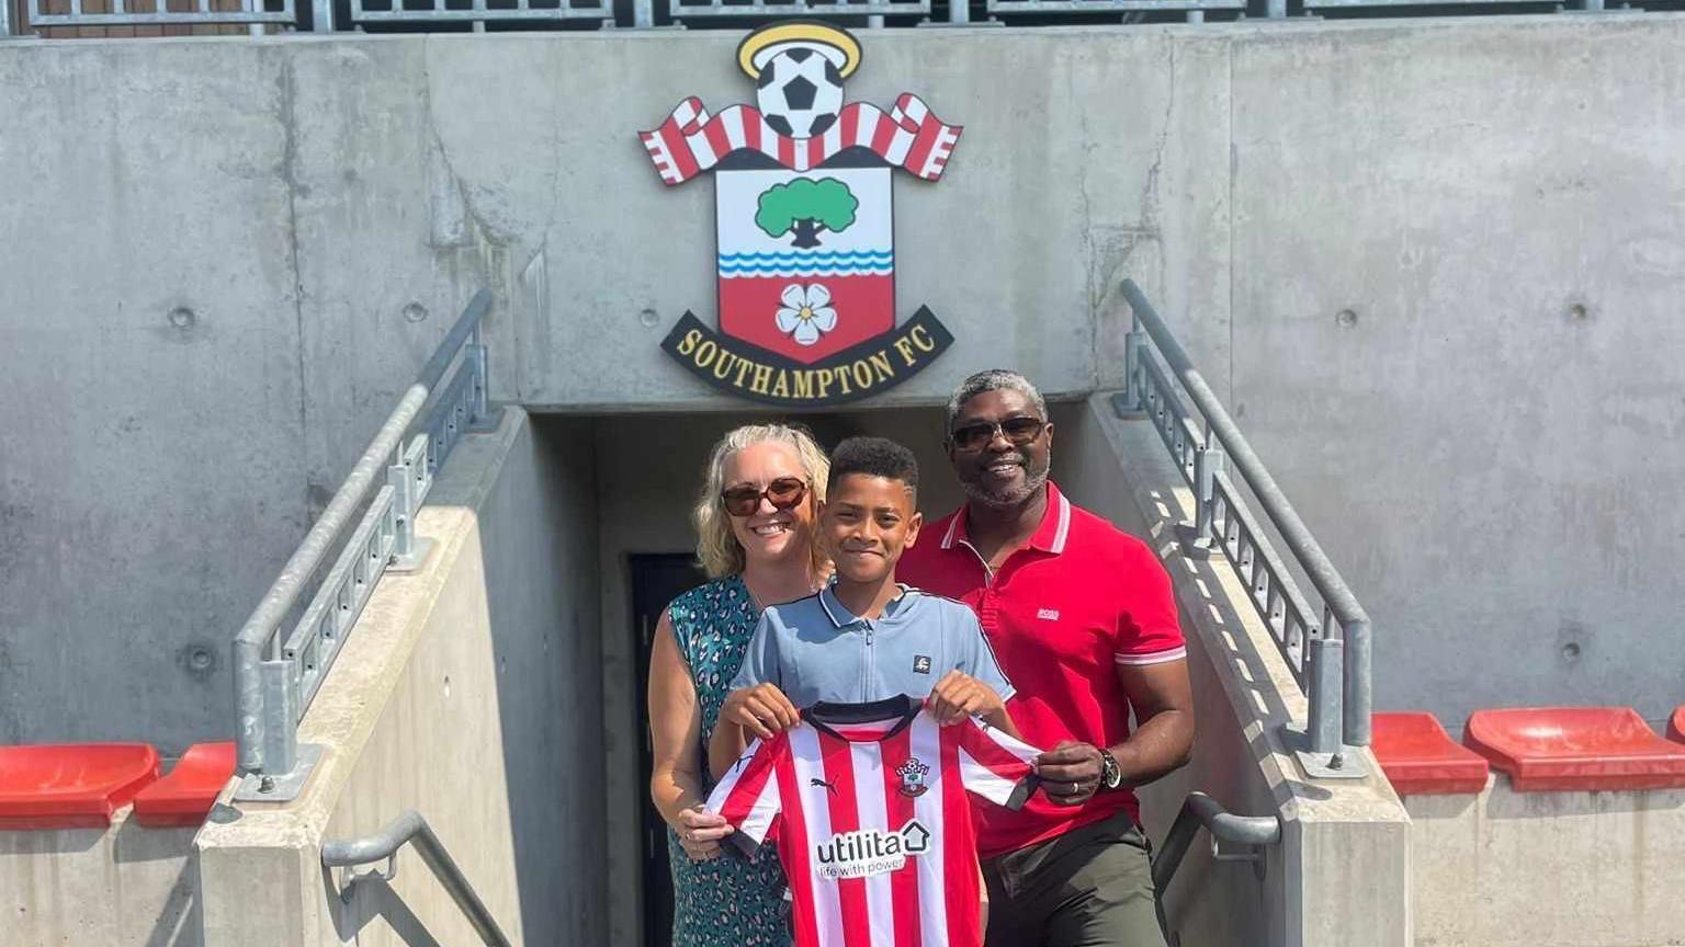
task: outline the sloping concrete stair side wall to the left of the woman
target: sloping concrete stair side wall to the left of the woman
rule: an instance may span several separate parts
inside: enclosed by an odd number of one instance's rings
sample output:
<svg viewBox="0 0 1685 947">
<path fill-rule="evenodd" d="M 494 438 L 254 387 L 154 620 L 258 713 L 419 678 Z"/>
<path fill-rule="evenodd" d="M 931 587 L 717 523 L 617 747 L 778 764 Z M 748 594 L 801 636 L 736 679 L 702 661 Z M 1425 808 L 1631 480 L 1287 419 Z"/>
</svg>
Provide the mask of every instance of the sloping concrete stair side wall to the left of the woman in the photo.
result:
<svg viewBox="0 0 1685 947">
<path fill-rule="evenodd" d="M 209 944 L 465 944 L 421 859 L 339 898 L 330 837 L 416 809 L 516 944 L 605 939 L 602 689 L 586 425 L 519 409 L 452 455 L 416 521 L 426 566 L 388 576 L 300 728 L 305 794 L 241 805 L 199 839 Z"/>
</svg>

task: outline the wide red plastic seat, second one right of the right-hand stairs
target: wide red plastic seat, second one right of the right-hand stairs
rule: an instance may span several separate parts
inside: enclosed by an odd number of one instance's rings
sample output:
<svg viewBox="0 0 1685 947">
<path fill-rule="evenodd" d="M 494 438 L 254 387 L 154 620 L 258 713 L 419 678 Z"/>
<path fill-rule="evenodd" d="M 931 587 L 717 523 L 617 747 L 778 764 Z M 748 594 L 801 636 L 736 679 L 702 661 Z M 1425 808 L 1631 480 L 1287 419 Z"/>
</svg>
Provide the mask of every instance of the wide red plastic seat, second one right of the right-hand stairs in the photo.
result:
<svg viewBox="0 0 1685 947">
<path fill-rule="evenodd" d="M 1685 746 L 1656 736 L 1633 708 L 1474 711 L 1463 741 L 1516 792 L 1685 787 Z"/>
</svg>

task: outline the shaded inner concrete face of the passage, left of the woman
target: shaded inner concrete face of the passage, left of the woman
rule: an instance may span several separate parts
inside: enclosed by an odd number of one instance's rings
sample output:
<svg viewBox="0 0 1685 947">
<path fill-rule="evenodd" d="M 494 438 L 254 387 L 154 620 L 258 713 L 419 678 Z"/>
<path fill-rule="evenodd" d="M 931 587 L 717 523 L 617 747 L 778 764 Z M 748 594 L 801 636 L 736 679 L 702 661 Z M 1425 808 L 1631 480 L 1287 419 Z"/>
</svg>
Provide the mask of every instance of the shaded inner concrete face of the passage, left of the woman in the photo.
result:
<svg viewBox="0 0 1685 947">
<path fill-rule="evenodd" d="M 534 416 L 479 522 L 504 763 L 502 785 L 484 789 L 507 794 L 521 905 L 519 922 L 497 920 L 529 944 L 603 944 L 603 566 L 590 420 Z"/>
</svg>

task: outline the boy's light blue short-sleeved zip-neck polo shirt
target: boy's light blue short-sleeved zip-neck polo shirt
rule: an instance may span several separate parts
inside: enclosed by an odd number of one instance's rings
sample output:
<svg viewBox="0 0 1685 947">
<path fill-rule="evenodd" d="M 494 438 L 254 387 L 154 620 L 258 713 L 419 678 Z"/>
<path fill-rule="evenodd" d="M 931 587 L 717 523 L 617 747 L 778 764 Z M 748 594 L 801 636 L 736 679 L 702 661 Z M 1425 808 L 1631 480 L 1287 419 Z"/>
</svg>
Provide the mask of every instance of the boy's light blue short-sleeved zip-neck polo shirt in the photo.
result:
<svg viewBox="0 0 1685 947">
<path fill-rule="evenodd" d="M 826 586 L 762 613 L 731 689 L 772 682 L 797 708 L 927 698 L 954 669 L 994 688 L 1003 701 L 1013 696 L 977 615 L 966 605 L 903 585 L 883 615 L 868 620 Z"/>
</svg>

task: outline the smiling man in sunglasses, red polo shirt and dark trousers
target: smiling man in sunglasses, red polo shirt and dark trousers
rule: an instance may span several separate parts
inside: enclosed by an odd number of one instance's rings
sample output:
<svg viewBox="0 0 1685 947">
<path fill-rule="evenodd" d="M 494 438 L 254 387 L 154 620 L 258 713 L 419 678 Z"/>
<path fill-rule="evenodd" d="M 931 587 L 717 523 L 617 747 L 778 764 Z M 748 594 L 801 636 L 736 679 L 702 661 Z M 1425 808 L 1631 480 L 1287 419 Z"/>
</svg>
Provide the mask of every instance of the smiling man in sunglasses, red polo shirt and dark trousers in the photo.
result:
<svg viewBox="0 0 1685 947">
<path fill-rule="evenodd" d="M 1018 372 L 960 383 L 945 440 L 967 500 L 900 575 L 977 612 L 1018 691 L 1013 721 L 1051 746 L 1036 760 L 1045 795 L 981 817 L 989 947 L 1163 947 L 1131 787 L 1188 762 L 1186 647 L 1153 551 L 1048 482 L 1046 418 Z"/>
</svg>

